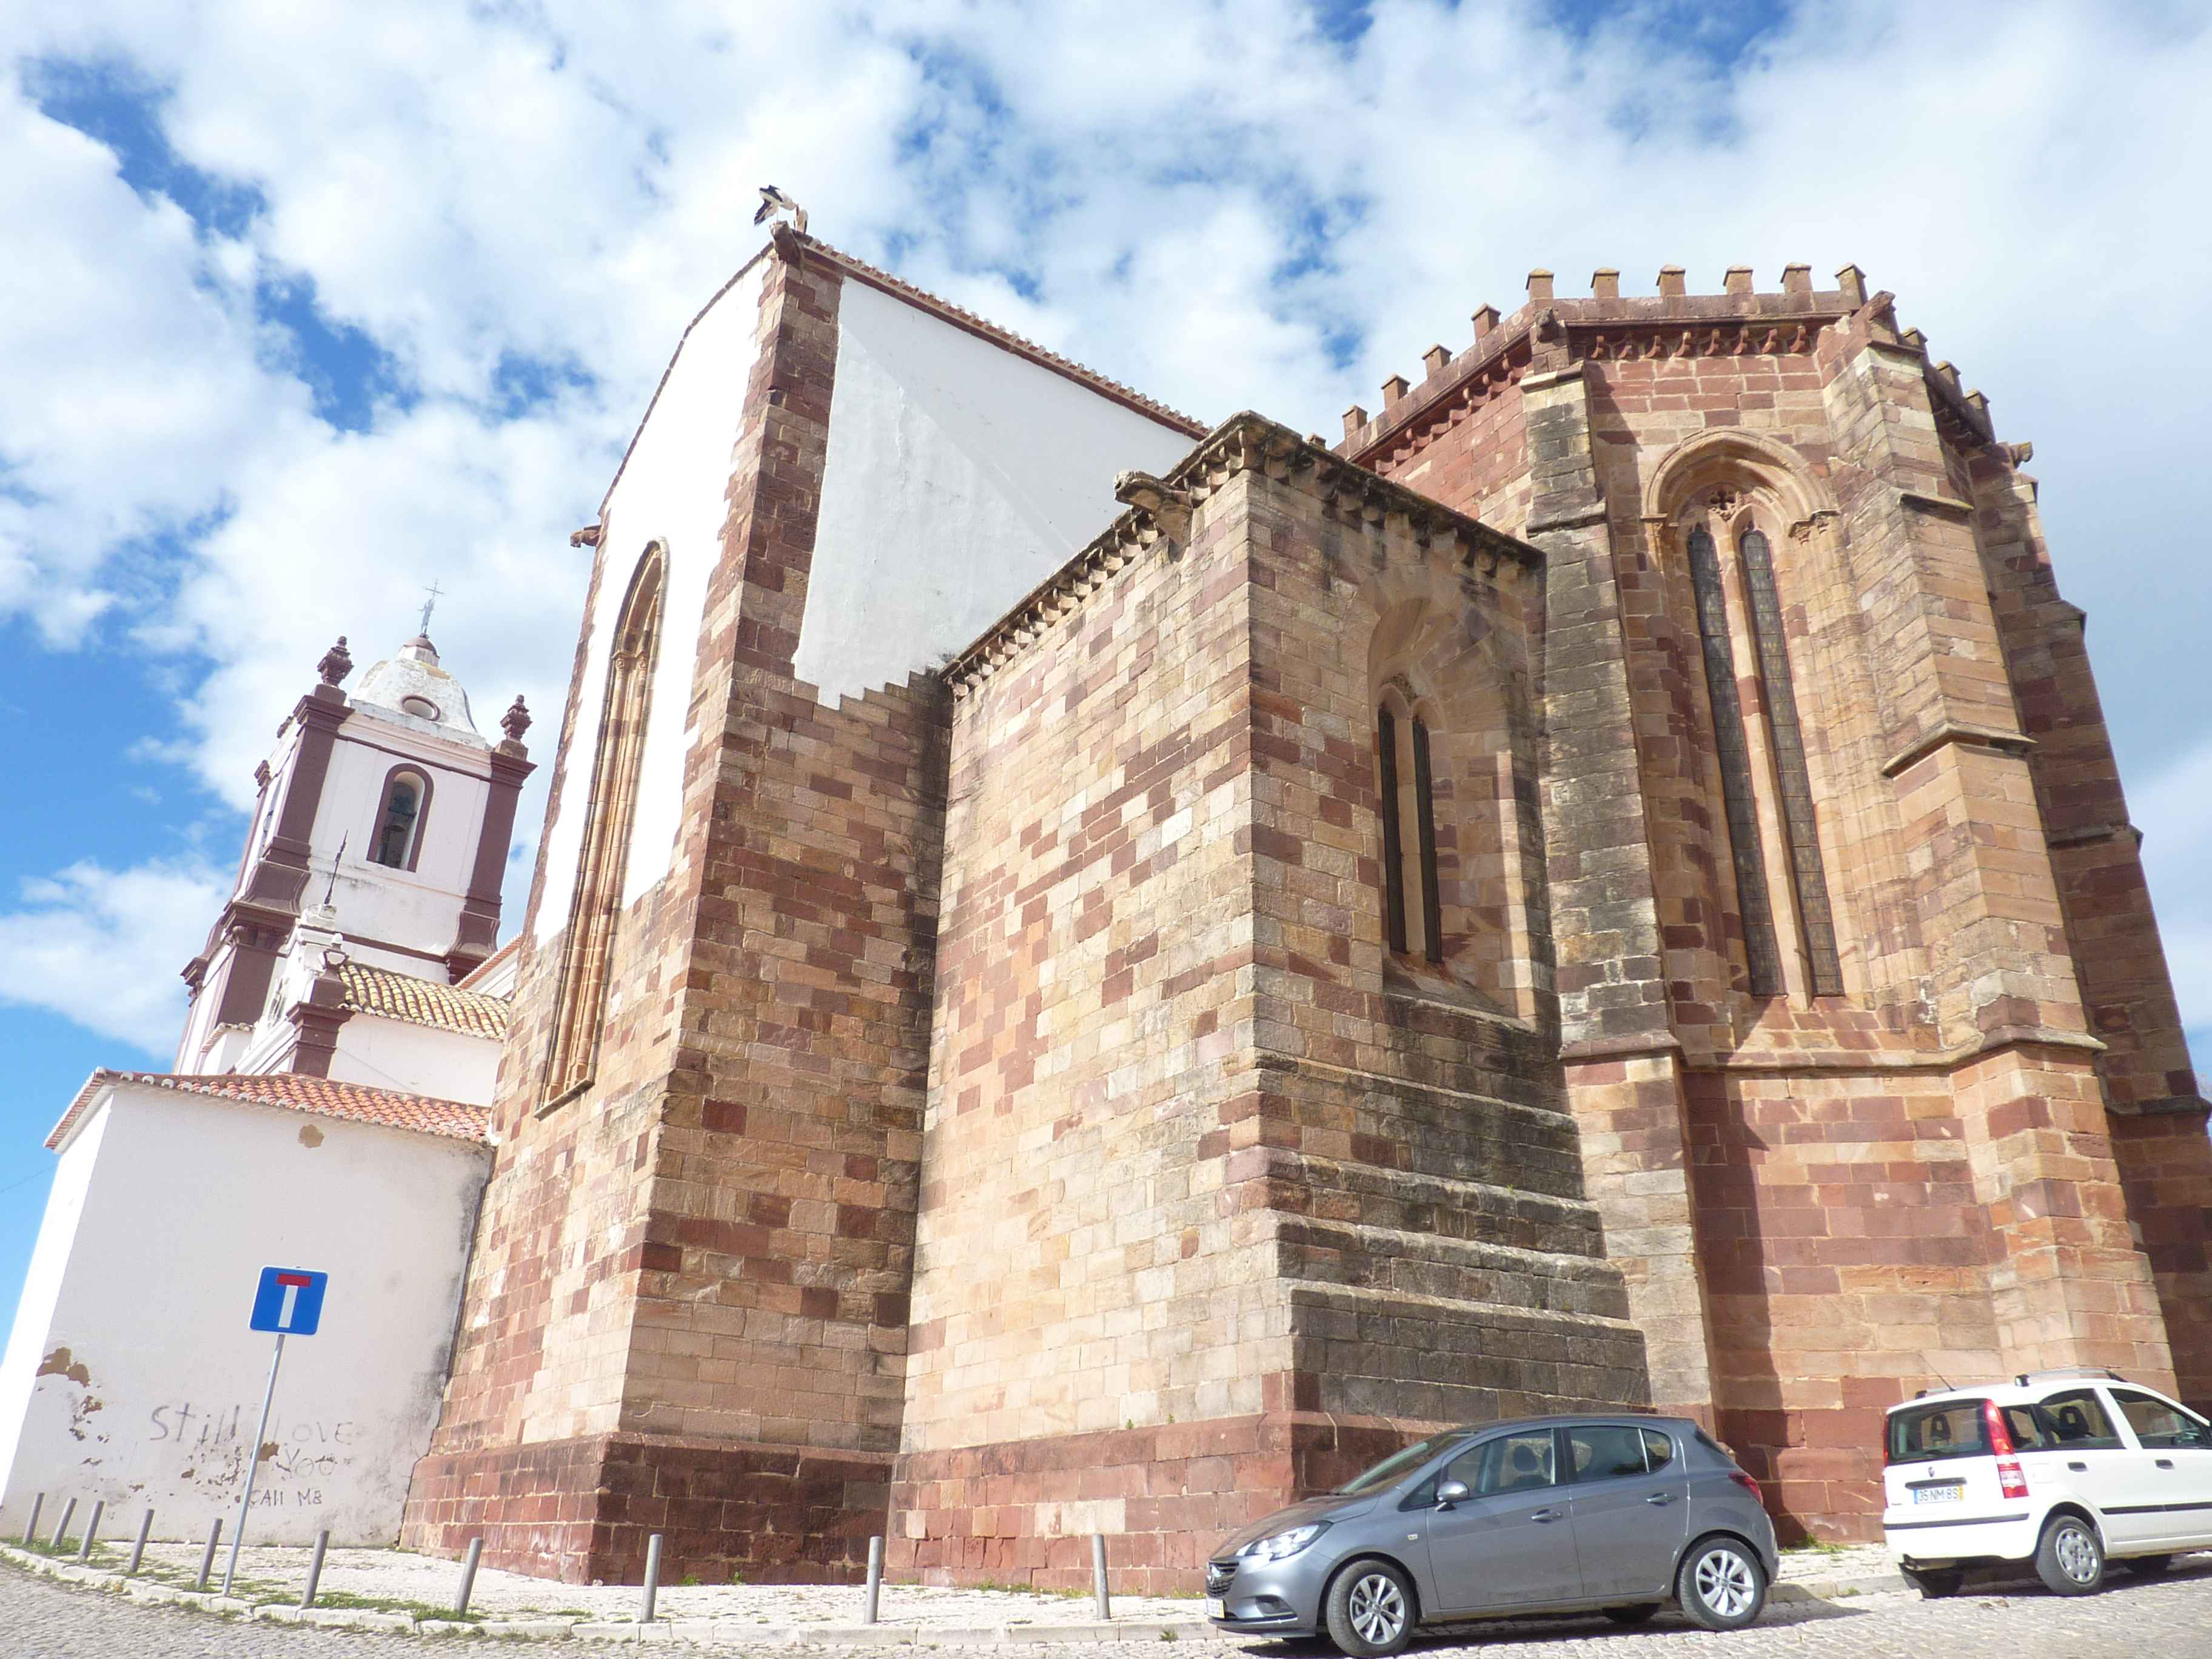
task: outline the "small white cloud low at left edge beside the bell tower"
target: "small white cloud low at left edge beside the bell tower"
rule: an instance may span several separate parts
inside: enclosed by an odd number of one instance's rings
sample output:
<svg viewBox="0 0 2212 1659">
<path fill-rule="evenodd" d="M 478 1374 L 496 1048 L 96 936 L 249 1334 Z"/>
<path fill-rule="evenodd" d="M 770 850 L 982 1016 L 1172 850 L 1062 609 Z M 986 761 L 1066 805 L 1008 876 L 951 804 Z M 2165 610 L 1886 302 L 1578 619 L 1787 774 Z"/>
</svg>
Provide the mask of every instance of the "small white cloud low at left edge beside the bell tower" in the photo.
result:
<svg viewBox="0 0 2212 1659">
<path fill-rule="evenodd" d="M 184 1024 L 177 971 L 199 953 L 228 883 L 208 865 L 71 865 L 0 911 L 0 1000 L 60 1013 L 168 1060 Z"/>
</svg>

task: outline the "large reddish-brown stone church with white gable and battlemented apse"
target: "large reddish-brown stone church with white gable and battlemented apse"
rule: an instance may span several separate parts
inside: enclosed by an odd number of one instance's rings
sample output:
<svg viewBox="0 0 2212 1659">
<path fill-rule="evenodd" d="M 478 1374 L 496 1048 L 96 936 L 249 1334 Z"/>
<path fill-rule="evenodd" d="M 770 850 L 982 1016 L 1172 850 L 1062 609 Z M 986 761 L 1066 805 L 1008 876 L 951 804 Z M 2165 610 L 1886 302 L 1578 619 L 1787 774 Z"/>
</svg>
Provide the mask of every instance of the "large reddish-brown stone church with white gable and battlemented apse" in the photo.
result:
<svg viewBox="0 0 2212 1659">
<path fill-rule="evenodd" d="M 2212 1141 L 1984 398 L 1856 268 L 1555 292 L 1340 440 L 790 228 L 591 597 L 403 1542 L 1190 1588 L 1433 1425 L 2212 1398 Z"/>
</svg>

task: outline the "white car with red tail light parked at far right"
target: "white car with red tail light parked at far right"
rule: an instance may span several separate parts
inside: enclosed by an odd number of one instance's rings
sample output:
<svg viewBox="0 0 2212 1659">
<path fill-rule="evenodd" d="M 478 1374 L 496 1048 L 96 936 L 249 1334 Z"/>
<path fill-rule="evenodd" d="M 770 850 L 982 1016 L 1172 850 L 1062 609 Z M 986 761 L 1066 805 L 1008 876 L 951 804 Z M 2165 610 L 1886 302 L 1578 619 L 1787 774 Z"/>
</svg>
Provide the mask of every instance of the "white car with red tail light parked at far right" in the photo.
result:
<svg viewBox="0 0 2212 1659">
<path fill-rule="evenodd" d="M 2212 1548 L 2212 1427 L 2115 1371 L 2035 1371 L 1889 1407 L 1882 1535 L 1922 1595 L 2035 1562 L 2057 1595 L 2106 1559 L 2163 1573 Z"/>
</svg>

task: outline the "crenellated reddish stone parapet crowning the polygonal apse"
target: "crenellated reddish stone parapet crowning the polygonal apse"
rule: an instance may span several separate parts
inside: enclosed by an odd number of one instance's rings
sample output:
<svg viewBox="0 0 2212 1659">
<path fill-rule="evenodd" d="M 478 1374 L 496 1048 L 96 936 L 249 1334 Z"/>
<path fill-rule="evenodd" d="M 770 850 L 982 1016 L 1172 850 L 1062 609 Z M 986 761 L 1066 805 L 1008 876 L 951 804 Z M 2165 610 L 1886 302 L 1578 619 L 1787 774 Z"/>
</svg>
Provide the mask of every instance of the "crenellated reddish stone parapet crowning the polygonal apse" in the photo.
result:
<svg viewBox="0 0 2212 1659">
<path fill-rule="evenodd" d="M 1380 411 L 1369 414 L 1363 405 L 1345 409 L 1345 436 L 1336 453 L 1360 465 L 1371 462 L 1409 429 L 1447 418 L 1462 398 L 1517 380 L 1535 363 L 1540 345 L 1557 358 L 1546 367 L 1584 361 L 1809 352 L 1823 327 L 1863 316 L 1874 338 L 1913 349 L 1927 363 L 1927 336 L 1920 330 L 1898 330 L 1896 296 L 1871 292 L 1858 265 L 1838 270 L 1834 288 L 1814 288 L 1812 265 L 1783 265 L 1778 292 L 1756 292 L 1752 268 L 1730 265 L 1721 285 L 1719 294 L 1690 294 L 1683 268 L 1661 265 L 1657 294 L 1624 299 L 1619 270 L 1601 268 L 1590 274 L 1590 294 L 1584 299 L 1559 294 L 1553 272 L 1531 270 L 1528 299 L 1517 312 L 1500 316 L 1495 305 L 1478 307 L 1473 345 L 1458 354 L 1433 345 L 1422 354 L 1420 380 L 1394 374 L 1383 383 Z M 1966 389 L 1949 363 L 1927 363 L 1924 372 L 1929 398 L 1958 418 L 1962 436 L 1969 442 L 2000 447 L 1989 398 Z M 2024 447 L 2000 449 L 2011 453 Z"/>
</svg>

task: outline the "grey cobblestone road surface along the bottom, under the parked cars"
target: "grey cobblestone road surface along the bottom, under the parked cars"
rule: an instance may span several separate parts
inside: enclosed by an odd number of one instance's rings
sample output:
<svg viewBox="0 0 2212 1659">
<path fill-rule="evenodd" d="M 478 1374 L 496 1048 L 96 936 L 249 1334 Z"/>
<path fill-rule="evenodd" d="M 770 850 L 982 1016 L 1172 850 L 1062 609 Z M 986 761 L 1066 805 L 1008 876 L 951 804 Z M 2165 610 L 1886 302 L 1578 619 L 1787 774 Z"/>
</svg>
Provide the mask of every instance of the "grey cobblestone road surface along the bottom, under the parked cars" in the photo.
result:
<svg viewBox="0 0 2212 1659">
<path fill-rule="evenodd" d="M 64 1588 L 0 1568 L 0 1650 L 24 1659 L 425 1659 L 436 1637 L 387 1637 L 215 1619 L 177 1608 L 148 1608 L 113 1595 Z M 624 1644 L 626 1646 L 626 1644 Z M 1292 1659 L 1312 1652 L 1274 1641 L 1199 1641 L 1208 1659 Z M 1157 1659 L 1159 1641 L 1060 1648 L 1068 1659 Z M 518 1652 L 546 1659 L 608 1659 L 606 1641 L 529 1644 Z M 730 1644 L 721 1652 L 743 1652 Z M 823 1652 L 761 1648 L 763 1655 Z M 936 1659 L 991 1655 L 1009 1648 L 929 1648 Z M 2002 1586 L 1951 1601 L 1869 1595 L 1836 1604 L 1774 1606 L 1754 1630 L 1710 1635 L 1663 1613 L 1641 1630 L 1615 1630 L 1597 1619 L 1471 1626 L 1429 1637 L 1420 1659 L 2095 1659 L 2146 1655 L 2212 1659 L 2212 1564 L 2163 1582 L 2115 1575 L 2104 1595 L 2062 1599 L 2028 1586 Z"/>
</svg>

